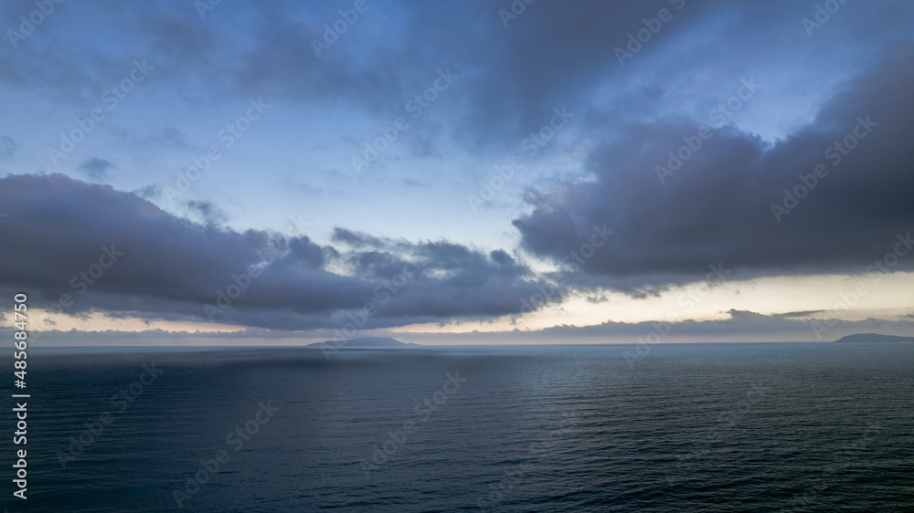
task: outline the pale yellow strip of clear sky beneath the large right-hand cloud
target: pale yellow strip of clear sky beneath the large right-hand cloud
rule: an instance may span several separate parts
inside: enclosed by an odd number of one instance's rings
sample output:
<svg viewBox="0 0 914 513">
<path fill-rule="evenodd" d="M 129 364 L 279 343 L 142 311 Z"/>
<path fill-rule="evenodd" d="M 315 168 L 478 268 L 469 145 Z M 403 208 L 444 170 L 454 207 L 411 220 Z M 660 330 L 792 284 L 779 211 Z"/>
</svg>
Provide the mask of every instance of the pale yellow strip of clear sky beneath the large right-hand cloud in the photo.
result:
<svg viewBox="0 0 914 513">
<path fill-rule="evenodd" d="M 632 298 L 603 290 L 574 294 L 560 304 L 533 313 L 492 320 L 412 324 L 389 329 L 395 333 L 470 333 L 543 330 L 555 326 L 595 326 L 603 322 L 638 323 L 652 320 L 722 320 L 730 309 L 773 316 L 825 310 L 792 319 L 898 319 L 914 305 L 914 273 L 874 277 L 821 275 L 762 277 L 744 281 L 711 280 L 668 288 L 657 296 Z M 863 288 L 860 288 L 860 286 Z M 863 290 L 862 294 L 855 290 Z M 591 302 L 590 298 L 605 298 Z M 856 299 L 855 299 L 856 298 Z M 849 304 L 853 303 L 853 304 Z M 848 306 L 847 309 L 841 307 Z"/>
</svg>

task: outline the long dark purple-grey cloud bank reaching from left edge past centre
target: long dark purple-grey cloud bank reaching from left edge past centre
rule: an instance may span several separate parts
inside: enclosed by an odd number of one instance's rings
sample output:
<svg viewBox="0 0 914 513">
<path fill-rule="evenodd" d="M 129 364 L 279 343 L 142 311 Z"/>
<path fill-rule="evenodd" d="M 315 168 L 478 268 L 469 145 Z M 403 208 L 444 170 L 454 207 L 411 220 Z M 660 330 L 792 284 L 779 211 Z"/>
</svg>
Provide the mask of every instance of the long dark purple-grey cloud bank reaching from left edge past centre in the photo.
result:
<svg viewBox="0 0 914 513">
<path fill-rule="evenodd" d="M 373 301 L 378 313 L 366 327 L 383 327 L 518 313 L 521 298 L 537 291 L 526 267 L 503 251 L 486 255 L 447 241 L 410 244 L 339 229 L 335 240 L 356 243 L 341 252 L 307 236 L 198 225 L 135 194 L 60 174 L 8 175 L 0 180 L 0 205 L 8 213 L 0 230 L 16 241 L 0 247 L 0 288 L 26 290 L 46 308 L 69 294 L 74 302 L 64 307 L 73 314 L 206 319 L 204 305 L 216 303 L 217 290 L 250 281 L 213 320 L 338 327 L 345 310 Z M 330 261 L 353 275 L 328 271 Z M 405 268 L 411 277 L 398 277 Z"/>
</svg>

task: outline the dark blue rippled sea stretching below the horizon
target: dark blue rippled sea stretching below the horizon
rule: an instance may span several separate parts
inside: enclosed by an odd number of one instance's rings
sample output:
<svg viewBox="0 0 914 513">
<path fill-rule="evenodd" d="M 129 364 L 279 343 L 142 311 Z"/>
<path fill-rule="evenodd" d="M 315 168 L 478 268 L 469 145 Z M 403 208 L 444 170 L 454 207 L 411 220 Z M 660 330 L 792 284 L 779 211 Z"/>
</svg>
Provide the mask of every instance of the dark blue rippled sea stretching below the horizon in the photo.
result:
<svg viewBox="0 0 914 513">
<path fill-rule="evenodd" d="M 914 344 L 107 351 L 32 351 L 10 511 L 914 510 Z"/>
</svg>

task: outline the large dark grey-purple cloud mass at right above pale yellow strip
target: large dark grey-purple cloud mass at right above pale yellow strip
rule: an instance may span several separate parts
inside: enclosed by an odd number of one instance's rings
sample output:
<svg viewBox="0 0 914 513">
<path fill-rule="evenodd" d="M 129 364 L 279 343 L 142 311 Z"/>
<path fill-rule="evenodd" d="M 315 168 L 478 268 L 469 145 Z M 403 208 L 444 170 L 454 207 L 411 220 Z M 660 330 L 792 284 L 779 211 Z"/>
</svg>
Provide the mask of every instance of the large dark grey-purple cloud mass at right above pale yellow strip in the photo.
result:
<svg viewBox="0 0 914 513">
<path fill-rule="evenodd" d="M 514 224 L 527 249 L 561 258 L 606 223 L 616 235 L 584 267 L 630 284 L 694 279 L 717 262 L 746 275 L 863 272 L 909 251 L 898 244 L 914 232 L 911 90 L 914 50 L 898 47 L 785 140 L 769 145 L 732 126 L 714 130 L 681 169 L 662 173 L 664 183 L 656 166 L 667 166 L 684 136 L 694 142 L 700 124 L 632 123 L 590 155 L 594 182 L 531 195 L 533 211 Z M 826 153 L 855 130 L 865 138 L 854 136 L 853 150 Z M 818 164 L 827 175 L 809 178 Z M 785 200 L 785 189 L 809 189 L 813 179 L 808 195 Z M 772 204 L 784 210 L 775 215 Z M 914 255 L 887 261 L 914 267 Z"/>
</svg>

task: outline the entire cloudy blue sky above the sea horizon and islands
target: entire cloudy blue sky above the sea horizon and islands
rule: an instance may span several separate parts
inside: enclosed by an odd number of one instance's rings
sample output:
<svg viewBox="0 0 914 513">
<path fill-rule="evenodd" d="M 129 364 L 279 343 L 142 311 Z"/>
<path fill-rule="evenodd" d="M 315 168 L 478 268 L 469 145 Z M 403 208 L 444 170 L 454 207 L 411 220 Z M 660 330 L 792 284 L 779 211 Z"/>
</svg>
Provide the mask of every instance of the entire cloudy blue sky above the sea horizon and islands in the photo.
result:
<svg viewBox="0 0 914 513">
<path fill-rule="evenodd" d="M 48 345 L 914 330 L 914 4 L 0 4 Z"/>
</svg>

